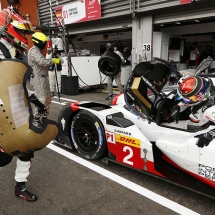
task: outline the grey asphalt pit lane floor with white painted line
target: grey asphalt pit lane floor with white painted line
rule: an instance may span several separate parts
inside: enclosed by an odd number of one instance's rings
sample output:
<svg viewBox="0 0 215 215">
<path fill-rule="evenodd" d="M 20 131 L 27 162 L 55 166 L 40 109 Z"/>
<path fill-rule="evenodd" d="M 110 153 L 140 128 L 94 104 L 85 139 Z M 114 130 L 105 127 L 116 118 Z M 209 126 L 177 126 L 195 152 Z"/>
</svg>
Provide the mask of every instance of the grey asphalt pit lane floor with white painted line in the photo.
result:
<svg viewBox="0 0 215 215">
<path fill-rule="evenodd" d="M 61 104 L 57 97 L 53 98 L 49 118 L 57 120 L 58 112 L 68 100 L 97 101 L 107 104 L 106 93 L 86 93 L 77 96 L 61 95 Z M 54 151 L 57 149 L 57 152 Z M 59 149 L 59 151 L 58 151 Z M 59 154 L 59 152 L 62 152 Z M 14 171 L 16 158 L 0 171 L 1 193 L 0 214 L 2 215 L 153 215 L 177 214 L 175 210 L 157 203 L 156 195 L 150 200 L 125 186 L 120 185 L 102 174 L 84 166 L 84 162 L 76 162 L 66 155 L 80 158 L 77 152 L 50 144 L 45 149 L 35 152 L 32 159 L 31 174 L 27 183 L 29 191 L 38 195 L 38 201 L 28 203 L 16 198 L 14 191 Z M 88 162 L 88 161 L 87 161 Z M 215 214 L 215 200 L 198 195 L 183 188 L 168 184 L 135 170 L 101 160 L 90 161 L 100 168 L 135 183 L 187 208 L 187 212 L 179 214 Z M 147 193 L 146 190 L 146 193 Z M 157 198 L 159 197 L 157 196 Z M 165 201 L 166 203 L 166 201 Z M 169 204 L 172 204 L 169 202 Z M 175 206 L 177 207 L 177 205 Z M 190 209 L 190 210 L 189 210 Z M 195 213 L 196 212 L 196 213 Z"/>
</svg>

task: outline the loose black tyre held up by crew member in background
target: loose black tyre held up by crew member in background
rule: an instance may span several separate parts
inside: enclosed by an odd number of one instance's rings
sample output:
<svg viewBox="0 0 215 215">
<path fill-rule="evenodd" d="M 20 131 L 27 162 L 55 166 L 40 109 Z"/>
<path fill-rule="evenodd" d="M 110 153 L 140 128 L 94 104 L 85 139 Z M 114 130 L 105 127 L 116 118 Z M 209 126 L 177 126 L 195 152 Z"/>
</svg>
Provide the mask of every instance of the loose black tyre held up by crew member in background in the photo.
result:
<svg viewBox="0 0 215 215">
<path fill-rule="evenodd" d="M 107 51 L 98 61 L 99 70 L 106 76 L 115 76 L 121 70 L 122 60 L 118 54 Z"/>
</svg>

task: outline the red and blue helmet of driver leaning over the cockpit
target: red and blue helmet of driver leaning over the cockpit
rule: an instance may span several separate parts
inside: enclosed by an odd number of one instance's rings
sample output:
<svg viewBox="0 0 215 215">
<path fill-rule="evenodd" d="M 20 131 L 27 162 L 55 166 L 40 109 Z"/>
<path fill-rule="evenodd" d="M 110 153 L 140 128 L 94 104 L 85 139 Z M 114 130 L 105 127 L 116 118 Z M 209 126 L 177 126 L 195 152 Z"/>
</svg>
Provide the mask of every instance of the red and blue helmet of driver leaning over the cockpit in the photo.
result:
<svg viewBox="0 0 215 215">
<path fill-rule="evenodd" d="M 210 96 L 210 83 L 203 77 L 194 76 L 184 79 L 177 89 L 177 100 L 187 105 L 196 105 Z"/>
</svg>

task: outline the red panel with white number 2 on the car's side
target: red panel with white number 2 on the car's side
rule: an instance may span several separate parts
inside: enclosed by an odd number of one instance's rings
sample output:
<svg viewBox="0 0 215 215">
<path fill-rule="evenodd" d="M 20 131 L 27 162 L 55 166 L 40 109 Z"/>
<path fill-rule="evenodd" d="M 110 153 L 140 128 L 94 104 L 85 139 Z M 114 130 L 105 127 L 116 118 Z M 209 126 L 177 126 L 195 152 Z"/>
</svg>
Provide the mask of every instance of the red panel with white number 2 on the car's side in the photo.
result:
<svg viewBox="0 0 215 215">
<path fill-rule="evenodd" d="M 136 169 L 143 169 L 144 160 L 141 158 L 141 148 L 128 146 L 126 144 L 116 144 L 117 153 L 116 160 L 128 166 L 132 166 Z"/>
</svg>

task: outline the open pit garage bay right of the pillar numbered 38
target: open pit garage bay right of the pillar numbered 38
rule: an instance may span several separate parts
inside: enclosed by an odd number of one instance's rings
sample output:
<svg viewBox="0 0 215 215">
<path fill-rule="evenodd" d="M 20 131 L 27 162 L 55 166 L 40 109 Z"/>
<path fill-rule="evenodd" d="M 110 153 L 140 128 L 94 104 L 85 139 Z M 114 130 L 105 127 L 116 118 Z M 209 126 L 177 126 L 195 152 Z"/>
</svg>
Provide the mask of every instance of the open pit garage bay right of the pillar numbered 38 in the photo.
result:
<svg viewBox="0 0 215 215">
<path fill-rule="evenodd" d="M 161 57 L 177 71 L 197 67 L 205 48 L 210 46 L 209 56 L 215 57 L 215 2 L 198 1 L 166 10 L 154 16 L 153 56 Z M 195 64 L 191 65 L 191 51 L 197 49 Z M 194 58 L 192 58 L 194 60 Z"/>
</svg>

